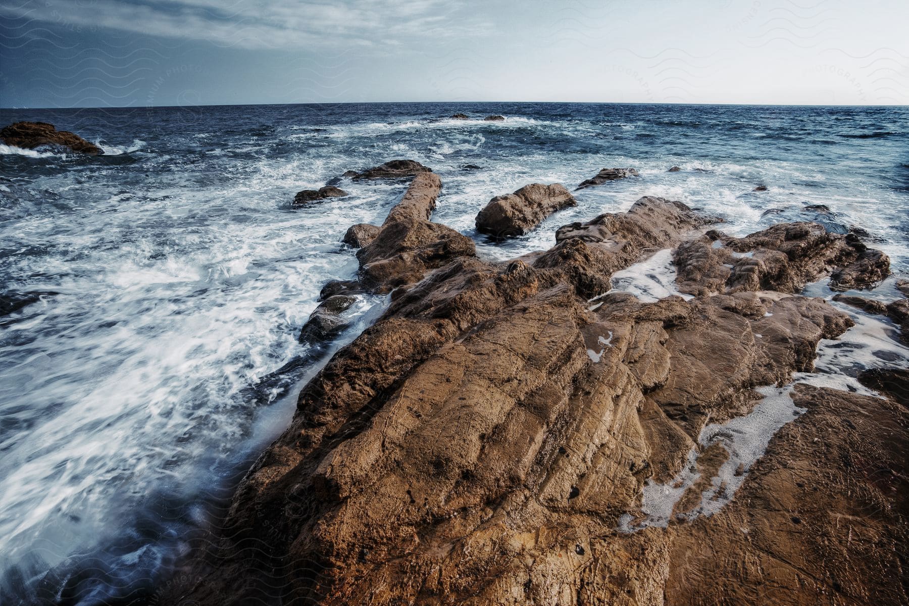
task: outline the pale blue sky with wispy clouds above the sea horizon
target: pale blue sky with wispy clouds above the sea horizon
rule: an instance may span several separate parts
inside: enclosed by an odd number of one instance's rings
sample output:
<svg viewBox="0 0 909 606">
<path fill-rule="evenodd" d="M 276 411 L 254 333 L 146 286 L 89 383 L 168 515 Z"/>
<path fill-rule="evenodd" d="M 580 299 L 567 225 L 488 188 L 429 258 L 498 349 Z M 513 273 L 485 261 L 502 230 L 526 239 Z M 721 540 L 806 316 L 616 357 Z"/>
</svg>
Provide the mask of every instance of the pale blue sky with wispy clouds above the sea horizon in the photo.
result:
<svg viewBox="0 0 909 606">
<path fill-rule="evenodd" d="M 0 0 L 0 106 L 909 104 L 907 0 Z"/>
</svg>

